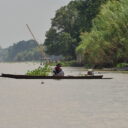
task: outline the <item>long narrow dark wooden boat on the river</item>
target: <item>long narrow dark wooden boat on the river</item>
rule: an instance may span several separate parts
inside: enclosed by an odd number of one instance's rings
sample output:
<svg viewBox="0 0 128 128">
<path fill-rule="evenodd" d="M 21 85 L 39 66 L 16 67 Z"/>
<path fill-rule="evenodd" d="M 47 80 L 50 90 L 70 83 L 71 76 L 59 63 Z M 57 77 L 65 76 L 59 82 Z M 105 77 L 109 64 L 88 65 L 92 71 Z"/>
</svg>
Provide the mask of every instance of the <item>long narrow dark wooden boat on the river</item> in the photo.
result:
<svg viewBox="0 0 128 128">
<path fill-rule="evenodd" d="M 85 76 L 28 76 L 28 75 L 2 74 L 1 77 L 14 78 L 14 79 L 102 79 L 103 75 L 85 75 Z"/>
</svg>

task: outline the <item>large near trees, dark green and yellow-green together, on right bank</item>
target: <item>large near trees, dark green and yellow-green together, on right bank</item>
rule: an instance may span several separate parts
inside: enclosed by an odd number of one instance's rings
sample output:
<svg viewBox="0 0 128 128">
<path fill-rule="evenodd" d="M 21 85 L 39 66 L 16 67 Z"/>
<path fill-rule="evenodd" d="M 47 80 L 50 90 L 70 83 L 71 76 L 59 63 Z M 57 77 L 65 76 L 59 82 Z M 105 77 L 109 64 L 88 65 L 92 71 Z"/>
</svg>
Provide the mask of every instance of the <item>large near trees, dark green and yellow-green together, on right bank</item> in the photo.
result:
<svg viewBox="0 0 128 128">
<path fill-rule="evenodd" d="M 52 19 L 46 53 L 95 68 L 128 63 L 127 6 L 128 0 L 71 1 Z"/>
</svg>

